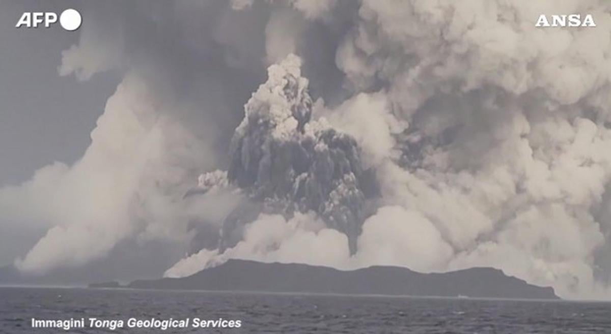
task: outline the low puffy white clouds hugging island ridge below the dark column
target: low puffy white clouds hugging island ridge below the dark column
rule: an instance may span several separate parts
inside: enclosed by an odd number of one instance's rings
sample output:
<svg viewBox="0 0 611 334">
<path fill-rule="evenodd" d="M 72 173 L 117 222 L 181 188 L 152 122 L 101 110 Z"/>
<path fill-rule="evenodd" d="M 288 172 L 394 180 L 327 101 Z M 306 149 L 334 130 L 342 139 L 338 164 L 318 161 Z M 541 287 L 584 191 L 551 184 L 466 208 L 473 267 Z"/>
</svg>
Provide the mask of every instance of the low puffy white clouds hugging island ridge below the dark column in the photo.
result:
<svg viewBox="0 0 611 334">
<path fill-rule="evenodd" d="M 343 270 L 392 265 L 431 272 L 444 271 L 451 255 L 451 247 L 430 221 L 400 206 L 382 207 L 364 222 L 356 254 L 349 252 L 348 236 L 327 227 L 312 211 L 295 213 L 290 219 L 262 214 L 244 227 L 243 239 L 235 246 L 202 249 L 178 261 L 164 277 L 192 275 L 230 258 Z"/>
</svg>

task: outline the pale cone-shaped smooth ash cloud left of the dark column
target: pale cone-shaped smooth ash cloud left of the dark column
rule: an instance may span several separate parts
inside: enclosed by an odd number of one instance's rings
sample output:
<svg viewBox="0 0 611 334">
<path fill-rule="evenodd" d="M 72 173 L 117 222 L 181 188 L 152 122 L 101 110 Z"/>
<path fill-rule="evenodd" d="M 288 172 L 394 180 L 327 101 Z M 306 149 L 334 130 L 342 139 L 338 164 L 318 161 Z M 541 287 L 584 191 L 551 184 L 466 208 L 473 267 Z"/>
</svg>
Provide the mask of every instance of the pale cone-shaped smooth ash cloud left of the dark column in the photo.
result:
<svg viewBox="0 0 611 334">
<path fill-rule="evenodd" d="M 82 265 L 134 233 L 141 238 L 166 233 L 180 238 L 180 226 L 165 227 L 182 215 L 174 197 L 186 191 L 181 183 L 205 162 L 203 155 L 176 149 L 200 145 L 180 124 L 163 116 L 164 107 L 144 82 L 126 77 L 98 119 L 83 157 L 70 167 L 46 167 L 37 173 L 40 178 L 19 188 L 20 200 L 31 207 L 18 218 L 37 218 L 51 227 L 16 261 L 18 268 L 44 272 Z M 51 171 L 53 184 L 46 187 L 42 175 Z M 1 193 L 2 198 L 13 196 L 11 189 Z"/>
</svg>

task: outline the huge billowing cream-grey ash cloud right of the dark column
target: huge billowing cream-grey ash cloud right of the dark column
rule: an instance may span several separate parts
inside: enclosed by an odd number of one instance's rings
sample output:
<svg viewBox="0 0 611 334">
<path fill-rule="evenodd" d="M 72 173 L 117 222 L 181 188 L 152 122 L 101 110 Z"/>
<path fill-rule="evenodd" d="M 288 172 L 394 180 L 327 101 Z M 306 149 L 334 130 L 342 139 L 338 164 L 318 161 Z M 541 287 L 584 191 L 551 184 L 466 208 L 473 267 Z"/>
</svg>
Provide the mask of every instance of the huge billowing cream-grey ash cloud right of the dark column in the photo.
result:
<svg viewBox="0 0 611 334">
<path fill-rule="evenodd" d="M 608 295 L 611 268 L 594 260 L 609 249 L 608 6 L 363 1 L 335 58 L 352 96 L 320 113 L 377 167 L 378 215 L 434 227 L 425 244 L 436 251 L 355 265 L 376 254 L 357 247 L 336 266 L 486 265 L 565 297 Z M 534 27 L 552 12 L 592 13 L 599 28 Z M 359 240 L 408 242 L 417 227 L 402 227 L 364 227 Z"/>
</svg>

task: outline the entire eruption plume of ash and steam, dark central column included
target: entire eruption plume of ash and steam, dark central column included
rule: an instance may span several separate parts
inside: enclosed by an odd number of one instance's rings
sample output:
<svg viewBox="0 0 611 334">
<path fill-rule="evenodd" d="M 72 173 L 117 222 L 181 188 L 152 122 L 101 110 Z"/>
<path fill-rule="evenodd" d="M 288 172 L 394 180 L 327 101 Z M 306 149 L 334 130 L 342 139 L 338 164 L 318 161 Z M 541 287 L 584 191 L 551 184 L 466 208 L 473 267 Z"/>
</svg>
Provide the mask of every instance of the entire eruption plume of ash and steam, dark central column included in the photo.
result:
<svg viewBox="0 0 611 334">
<path fill-rule="evenodd" d="M 563 297 L 611 296 L 611 4 L 155 4 L 126 15 L 185 62 L 123 21 L 84 26 L 64 54 L 60 74 L 126 76 L 78 163 L 0 190 L 2 221 L 49 226 L 22 271 L 166 238 L 191 244 L 173 277 L 232 257 L 493 266 Z M 597 27 L 537 29 L 541 13 Z M 222 94 L 261 82 L 244 108 Z"/>
</svg>

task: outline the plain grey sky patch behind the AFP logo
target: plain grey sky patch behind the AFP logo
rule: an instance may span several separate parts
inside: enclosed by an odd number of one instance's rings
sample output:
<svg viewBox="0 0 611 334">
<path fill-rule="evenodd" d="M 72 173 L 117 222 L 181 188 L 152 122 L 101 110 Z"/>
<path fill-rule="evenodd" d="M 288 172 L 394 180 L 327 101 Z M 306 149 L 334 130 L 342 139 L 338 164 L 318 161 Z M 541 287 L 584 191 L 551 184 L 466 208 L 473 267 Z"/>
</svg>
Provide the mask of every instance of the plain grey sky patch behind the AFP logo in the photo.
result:
<svg viewBox="0 0 611 334">
<path fill-rule="evenodd" d="M 59 8 L 60 2 L 53 4 Z M 15 28 L 24 11 L 54 10 L 51 5 L 0 2 L 0 185 L 23 182 L 42 166 L 81 156 L 120 80 L 112 72 L 86 83 L 58 75 L 61 51 L 78 42 L 78 30 L 68 32 L 58 24 Z M 77 3 L 66 5 L 78 9 Z"/>
</svg>

